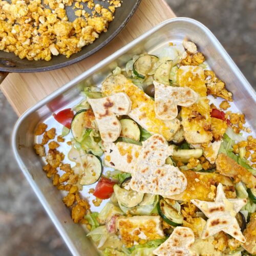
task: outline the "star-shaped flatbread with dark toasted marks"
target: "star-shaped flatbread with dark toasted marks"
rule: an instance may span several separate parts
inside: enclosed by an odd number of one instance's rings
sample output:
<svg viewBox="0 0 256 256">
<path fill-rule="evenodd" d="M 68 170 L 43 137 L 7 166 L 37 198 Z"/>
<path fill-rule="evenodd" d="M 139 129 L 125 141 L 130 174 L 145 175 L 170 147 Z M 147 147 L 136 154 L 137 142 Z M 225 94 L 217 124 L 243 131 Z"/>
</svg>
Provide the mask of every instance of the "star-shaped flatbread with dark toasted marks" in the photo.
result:
<svg viewBox="0 0 256 256">
<path fill-rule="evenodd" d="M 236 219 L 237 213 L 247 203 L 246 199 L 227 199 L 223 186 L 219 183 L 215 202 L 200 201 L 197 199 L 191 200 L 191 202 L 208 218 L 202 232 L 202 239 L 224 231 L 238 241 L 242 243 L 246 242 Z"/>
</svg>

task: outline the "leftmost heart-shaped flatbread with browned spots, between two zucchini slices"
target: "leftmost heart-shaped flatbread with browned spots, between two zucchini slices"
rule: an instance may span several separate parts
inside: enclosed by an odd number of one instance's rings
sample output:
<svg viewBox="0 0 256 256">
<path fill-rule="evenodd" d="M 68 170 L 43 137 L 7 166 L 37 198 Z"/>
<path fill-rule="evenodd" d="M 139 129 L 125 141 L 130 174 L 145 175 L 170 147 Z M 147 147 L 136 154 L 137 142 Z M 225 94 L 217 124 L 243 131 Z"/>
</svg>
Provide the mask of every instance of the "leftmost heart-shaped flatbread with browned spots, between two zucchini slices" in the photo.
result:
<svg viewBox="0 0 256 256">
<path fill-rule="evenodd" d="M 125 93 L 117 93 L 109 97 L 89 99 L 101 139 L 105 142 L 117 140 L 121 133 L 121 124 L 117 115 L 127 115 L 131 111 L 131 100 Z"/>
</svg>

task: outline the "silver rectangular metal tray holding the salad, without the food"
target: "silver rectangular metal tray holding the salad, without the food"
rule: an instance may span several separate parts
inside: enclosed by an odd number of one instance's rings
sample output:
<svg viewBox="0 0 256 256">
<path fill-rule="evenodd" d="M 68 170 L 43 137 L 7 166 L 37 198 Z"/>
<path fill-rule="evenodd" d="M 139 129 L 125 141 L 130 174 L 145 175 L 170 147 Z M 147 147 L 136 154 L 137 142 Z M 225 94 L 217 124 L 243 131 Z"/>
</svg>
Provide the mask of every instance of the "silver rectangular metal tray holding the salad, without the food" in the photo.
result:
<svg viewBox="0 0 256 256">
<path fill-rule="evenodd" d="M 256 99 L 254 90 L 216 37 L 201 23 L 189 18 L 173 18 L 159 24 L 38 102 L 17 121 L 12 134 L 15 158 L 74 255 L 96 255 L 97 249 L 86 237 L 82 226 L 73 223 L 69 209 L 62 203 L 62 191 L 57 190 L 41 170 L 44 160 L 39 159 L 33 150 L 33 144 L 38 140 L 33 135 L 36 125 L 38 122 L 46 122 L 49 127 L 56 127 L 60 134 L 62 126 L 53 119 L 52 113 L 77 104 L 81 100 L 79 93 L 84 86 L 98 86 L 116 66 L 124 66 L 135 54 L 145 51 L 154 54 L 169 41 L 181 42 L 184 38 L 194 41 L 205 54 L 208 66 L 226 82 L 227 89 L 234 94 L 235 104 L 231 104 L 231 109 L 245 113 L 248 125 L 255 130 L 256 112 L 252 110 Z M 218 104 L 218 100 L 215 103 Z M 67 155 L 65 143 L 59 151 Z M 84 186 L 84 196 L 88 196 L 89 188 Z"/>
</svg>

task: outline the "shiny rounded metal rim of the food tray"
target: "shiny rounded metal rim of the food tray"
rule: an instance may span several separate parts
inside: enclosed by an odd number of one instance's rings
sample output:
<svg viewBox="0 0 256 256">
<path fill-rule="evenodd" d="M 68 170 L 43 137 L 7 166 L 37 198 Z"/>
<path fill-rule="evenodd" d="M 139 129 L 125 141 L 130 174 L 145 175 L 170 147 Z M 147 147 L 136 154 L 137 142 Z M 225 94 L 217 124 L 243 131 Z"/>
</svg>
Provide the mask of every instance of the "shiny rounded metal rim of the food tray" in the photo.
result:
<svg viewBox="0 0 256 256">
<path fill-rule="evenodd" d="M 170 18 L 170 19 L 166 19 L 164 22 L 161 22 L 160 24 L 158 24 L 157 26 L 153 27 L 152 29 L 148 30 L 147 32 L 143 33 L 142 35 L 140 35 L 139 37 L 137 37 L 136 39 L 134 39 L 133 41 L 131 41 L 129 44 L 127 44 L 126 46 L 120 48 L 119 50 L 117 50 L 115 53 L 111 54 L 110 56 L 108 56 L 107 58 L 101 60 L 100 62 L 98 62 L 95 66 L 93 66 L 92 68 L 90 68 L 87 71 L 84 71 L 83 73 L 81 73 L 80 75 L 78 75 L 77 77 L 75 77 L 74 79 L 72 79 L 71 81 L 69 81 L 68 83 L 64 84 L 62 87 L 60 87 L 59 89 L 57 89 L 56 91 L 52 92 L 51 94 L 49 94 L 47 97 L 45 97 L 44 99 L 40 100 L 39 102 L 37 102 L 36 104 L 34 104 L 33 106 L 31 106 L 27 111 L 25 111 L 23 113 L 22 116 L 20 116 L 17 120 L 17 122 L 14 125 L 13 131 L 12 131 L 12 135 L 11 135 L 11 146 L 12 146 L 12 151 L 14 154 L 14 157 L 18 163 L 18 166 L 20 169 L 22 169 L 22 172 L 24 173 L 26 179 L 28 180 L 29 184 L 31 185 L 31 187 L 33 188 L 36 196 L 38 197 L 39 201 L 41 202 L 42 206 L 45 208 L 47 214 L 49 215 L 50 219 L 52 220 L 52 222 L 54 223 L 55 227 L 57 228 L 60 236 L 62 237 L 62 239 L 65 241 L 66 245 L 68 246 L 68 248 L 70 249 L 71 253 L 73 255 L 79 255 L 78 251 L 76 250 L 75 246 L 73 246 L 72 241 L 69 239 L 68 236 L 66 236 L 66 233 L 64 231 L 64 229 L 62 228 L 62 225 L 60 224 L 60 222 L 58 221 L 57 216 L 53 213 L 53 211 L 51 210 L 51 207 L 49 206 L 46 198 L 44 197 L 44 195 L 41 193 L 41 191 L 38 189 L 36 183 L 34 182 L 34 180 L 31 178 L 31 176 L 29 175 L 29 171 L 28 168 L 26 167 L 26 165 L 24 164 L 24 162 L 22 161 L 22 159 L 19 157 L 19 153 L 18 153 L 18 143 L 17 143 L 17 132 L 19 129 L 20 124 L 23 122 L 23 120 L 28 117 L 31 113 L 35 112 L 36 110 L 38 110 L 39 108 L 41 108 L 42 106 L 46 105 L 50 100 L 56 98 L 57 96 L 59 96 L 61 93 L 69 90 L 70 88 L 72 88 L 73 86 L 75 86 L 75 84 L 77 84 L 78 82 L 80 82 L 83 79 L 86 79 L 88 76 L 94 74 L 95 71 L 97 71 L 98 69 L 104 67 L 105 65 L 108 64 L 108 62 L 111 62 L 112 60 L 116 59 L 117 57 L 121 56 L 123 53 L 125 53 L 127 50 L 132 49 L 134 46 L 136 46 L 141 40 L 145 39 L 146 37 L 150 36 L 151 34 L 153 34 L 154 32 L 156 32 L 157 30 L 161 29 L 162 27 L 168 25 L 169 23 L 175 23 L 175 22 L 187 22 L 193 25 L 196 25 L 197 27 L 199 27 L 201 30 L 204 31 L 205 34 L 207 34 L 207 36 L 209 36 L 212 40 L 212 44 L 217 48 L 217 50 L 221 53 L 223 58 L 226 58 L 227 61 L 229 61 L 230 63 L 230 68 L 232 70 L 235 70 L 240 78 L 243 80 L 243 86 L 244 88 L 248 91 L 248 93 L 252 96 L 252 98 L 254 99 L 254 101 L 256 101 L 256 93 L 254 91 L 254 89 L 252 88 L 251 84 L 248 82 L 248 80 L 245 78 L 245 76 L 243 75 L 243 73 L 240 71 L 240 69 L 237 67 L 236 63 L 234 63 L 234 61 L 231 59 L 231 57 L 229 56 L 229 54 L 226 52 L 226 50 L 223 48 L 223 46 L 221 45 L 221 43 L 219 42 L 219 40 L 216 38 L 216 36 L 206 27 L 204 26 L 202 23 L 198 22 L 195 19 L 192 18 L 187 18 L 187 17 L 175 17 L 175 18 Z M 63 232 L 64 231 L 64 232 Z"/>
</svg>

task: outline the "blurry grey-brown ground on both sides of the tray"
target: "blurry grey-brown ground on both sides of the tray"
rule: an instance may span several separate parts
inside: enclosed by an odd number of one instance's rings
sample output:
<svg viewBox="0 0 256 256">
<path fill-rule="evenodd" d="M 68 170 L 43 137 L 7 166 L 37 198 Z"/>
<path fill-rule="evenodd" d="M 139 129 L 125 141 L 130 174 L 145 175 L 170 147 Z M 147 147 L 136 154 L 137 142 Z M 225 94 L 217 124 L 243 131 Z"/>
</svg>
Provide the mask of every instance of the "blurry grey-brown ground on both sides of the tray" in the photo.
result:
<svg viewBox="0 0 256 256">
<path fill-rule="evenodd" d="M 177 16 L 195 18 L 214 32 L 249 82 L 256 85 L 256 1 L 167 2 Z M 1 92 L 0 109 L 0 255 L 70 255 L 13 159 L 10 135 L 17 116 Z"/>
</svg>

